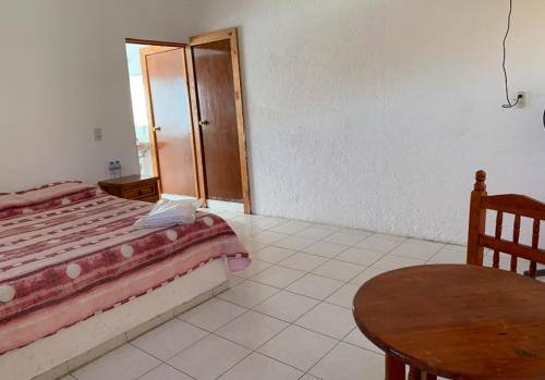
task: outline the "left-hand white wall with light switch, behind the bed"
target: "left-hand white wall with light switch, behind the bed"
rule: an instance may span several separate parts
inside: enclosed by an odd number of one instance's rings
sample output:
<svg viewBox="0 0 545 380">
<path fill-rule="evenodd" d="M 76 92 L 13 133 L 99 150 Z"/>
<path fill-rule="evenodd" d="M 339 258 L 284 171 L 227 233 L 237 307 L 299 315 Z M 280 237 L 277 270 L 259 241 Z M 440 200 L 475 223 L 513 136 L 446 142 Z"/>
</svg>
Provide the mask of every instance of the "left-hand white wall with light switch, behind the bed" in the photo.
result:
<svg viewBox="0 0 545 380">
<path fill-rule="evenodd" d="M 0 192 L 138 172 L 124 38 L 186 40 L 184 4 L 0 1 Z"/>
</svg>

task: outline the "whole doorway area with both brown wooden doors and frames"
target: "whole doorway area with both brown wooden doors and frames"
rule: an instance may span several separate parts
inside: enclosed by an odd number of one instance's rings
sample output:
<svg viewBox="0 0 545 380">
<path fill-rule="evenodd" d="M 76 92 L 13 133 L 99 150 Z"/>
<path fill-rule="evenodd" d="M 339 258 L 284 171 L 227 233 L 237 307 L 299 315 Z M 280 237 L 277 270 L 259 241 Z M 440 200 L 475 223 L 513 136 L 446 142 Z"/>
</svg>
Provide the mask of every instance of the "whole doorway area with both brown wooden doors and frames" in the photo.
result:
<svg viewBox="0 0 545 380">
<path fill-rule="evenodd" d="M 162 194 L 240 204 L 251 213 L 237 29 L 189 44 L 126 44 L 137 48 L 142 71 L 147 145 L 135 127 L 143 174 L 157 175 Z"/>
</svg>

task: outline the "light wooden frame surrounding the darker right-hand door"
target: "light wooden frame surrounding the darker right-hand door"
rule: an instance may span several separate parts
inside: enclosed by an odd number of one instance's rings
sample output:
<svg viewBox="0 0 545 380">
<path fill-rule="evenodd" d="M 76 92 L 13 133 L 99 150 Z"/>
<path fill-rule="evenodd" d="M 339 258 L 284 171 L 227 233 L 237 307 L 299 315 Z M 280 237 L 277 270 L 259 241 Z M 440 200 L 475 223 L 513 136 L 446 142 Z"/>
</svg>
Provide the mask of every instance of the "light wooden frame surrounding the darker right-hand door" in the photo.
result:
<svg viewBox="0 0 545 380">
<path fill-rule="evenodd" d="M 239 57 L 239 36 L 235 27 L 211 32 L 190 38 L 189 49 L 185 49 L 186 68 L 189 71 L 190 83 L 190 101 L 191 111 L 193 115 L 194 140 L 196 147 L 196 167 L 198 172 L 198 189 L 199 198 L 206 199 L 206 176 L 204 168 L 204 149 L 203 140 L 201 138 L 201 126 L 198 125 L 199 110 L 197 102 L 197 90 L 195 83 L 195 70 L 193 64 L 192 47 L 216 42 L 221 40 L 229 40 L 231 46 L 231 61 L 233 70 L 233 85 L 234 85 L 234 105 L 237 111 L 237 132 L 239 136 L 239 156 L 241 166 L 241 180 L 242 180 L 242 197 L 244 200 L 244 213 L 252 213 L 252 201 L 250 197 L 250 177 L 247 169 L 247 151 L 246 151 L 246 134 L 244 127 L 244 105 L 242 100 L 242 81 L 240 71 L 240 57 Z"/>
</svg>

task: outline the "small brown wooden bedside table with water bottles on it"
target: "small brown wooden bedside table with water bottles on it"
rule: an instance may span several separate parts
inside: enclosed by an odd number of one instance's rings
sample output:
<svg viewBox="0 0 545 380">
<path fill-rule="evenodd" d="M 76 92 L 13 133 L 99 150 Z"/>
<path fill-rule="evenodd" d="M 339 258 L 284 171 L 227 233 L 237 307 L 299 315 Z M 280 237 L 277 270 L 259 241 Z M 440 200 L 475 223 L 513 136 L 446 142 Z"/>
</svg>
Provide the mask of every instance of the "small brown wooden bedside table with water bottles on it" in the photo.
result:
<svg viewBox="0 0 545 380">
<path fill-rule="evenodd" d="M 159 177 L 128 175 L 98 183 L 101 189 L 117 197 L 156 203 L 160 198 Z"/>
</svg>

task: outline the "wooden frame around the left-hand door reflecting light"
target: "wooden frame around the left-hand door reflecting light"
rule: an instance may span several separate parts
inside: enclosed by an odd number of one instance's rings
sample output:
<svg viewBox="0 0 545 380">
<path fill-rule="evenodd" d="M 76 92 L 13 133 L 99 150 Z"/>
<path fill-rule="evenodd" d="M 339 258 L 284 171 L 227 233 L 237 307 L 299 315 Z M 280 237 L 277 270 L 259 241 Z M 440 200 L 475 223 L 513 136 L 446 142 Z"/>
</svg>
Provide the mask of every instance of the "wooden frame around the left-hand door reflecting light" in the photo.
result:
<svg viewBox="0 0 545 380">
<path fill-rule="evenodd" d="M 131 41 L 129 41 L 131 40 Z M 135 39 L 133 38 L 126 38 L 125 41 L 128 44 L 136 44 L 134 42 Z M 183 49 L 183 59 L 184 59 L 184 74 L 186 78 L 186 83 L 189 82 L 189 72 L 187 72 L 187 57 L 186 57 L 186 51 L 187 45 L 186 44 L 173 44 L 173 42 L 159 42 L 159 41 L 146 41 L 146 40 L 137 40 L 138 45 L 149 45 L 147 48 L 142 48 L 141 49 L 141 68 L 142 68 L 142 77 L 144 82 L 144 94 L 146 97 L 146 108 L 147 108 L 147 119 L 148 119 L 148 125 L 149 125 L 149 150 L 150 150 L 150 156 L 152 156 L 152 168 L 154 171 L 154 174 L 159 177 L 159 186 L 162 187 L 162 176 L 161 176 L 161 171 L 160 171 L 160 161 L 159 161 L 159 151 L 157 148 L 157 134 L 156 134 L 156 125 L 155 125 L 155 115 L 154 115 L 154 106 L 153 106 L 153 99 L 152 99 L 152 91 L 149 88 L 149 75 L 148 75 L 148 69 L 147 69 L 147 61 L 146 61 L 146 56 L 157 53 L 157 52 L 162 52 L 162 51 L 170 51 L 174 49 Z M 190 88 L 189 86 L 186 87 L 186 93 L 187 93 L 187 108 L 189 108 L 189 115 L 190 115 L 190 133 L 191 133 L 191 149 L 192 149 L 192 156 L 193 156 L 193 184 L 195 186 L 195 195 L 199 196 L 199 187 L 198 187 L 198 173 L 197 173 L 197 160 L 196 160 L 196 149 L 195 149 L 195 133 L 194 133 L 194 126 L 193 126 L 193 118 L 192 118 L 192 107 L 191 107 L 191 99 L 190 99 Z M 161 191 L 162 192 L 162 191 Z"/>
</svg>

